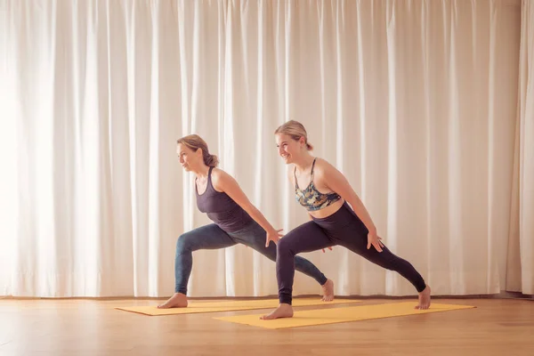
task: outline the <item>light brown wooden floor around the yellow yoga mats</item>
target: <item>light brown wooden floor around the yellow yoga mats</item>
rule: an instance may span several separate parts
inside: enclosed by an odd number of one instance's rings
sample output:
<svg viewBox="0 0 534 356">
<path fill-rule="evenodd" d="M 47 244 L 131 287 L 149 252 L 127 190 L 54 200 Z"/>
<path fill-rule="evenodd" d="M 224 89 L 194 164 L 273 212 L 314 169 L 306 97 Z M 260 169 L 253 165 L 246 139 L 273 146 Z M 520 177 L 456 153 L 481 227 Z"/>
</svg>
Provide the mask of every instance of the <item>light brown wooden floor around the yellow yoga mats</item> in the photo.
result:
<svg viewBox="0 0 534 356">
<path fill-rule="evenodd" d="M 0 355 L 534 355 L 532 301 L 435 301 L 477 309 L 269 330 L 212 319 L 250 311 L 150 317 L 114 307 L 155 300 L 4 299 Z"/>
</svg>

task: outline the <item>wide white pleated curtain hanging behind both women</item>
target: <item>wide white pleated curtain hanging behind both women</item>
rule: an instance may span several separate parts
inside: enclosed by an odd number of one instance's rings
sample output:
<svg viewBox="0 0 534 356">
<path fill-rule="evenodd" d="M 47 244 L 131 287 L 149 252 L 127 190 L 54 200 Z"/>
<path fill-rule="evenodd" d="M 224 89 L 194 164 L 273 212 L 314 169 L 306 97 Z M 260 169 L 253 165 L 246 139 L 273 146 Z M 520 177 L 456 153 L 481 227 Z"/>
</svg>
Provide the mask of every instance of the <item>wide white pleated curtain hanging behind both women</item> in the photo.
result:
<svg viewBox="0 0 534 356">
<path fill-rule="evenodd" d="M 498 293 L 516 277 L 521 2 L 0 1 L 0 292 L 171 295 L 176 239 L 209 223 L 175 155 L 185 134 L 206 139 L 273 225 L 306 222 L 274 146 L 290 118 L 434 294 Z M 337 295 L 415 294 L 343 247 L 304 256 Z M 296 275 L 295 294 L 318 291 Z M 192 296 L 276 293 L 274 263 L 252 249 L 194 254 Z"/>
</svg>

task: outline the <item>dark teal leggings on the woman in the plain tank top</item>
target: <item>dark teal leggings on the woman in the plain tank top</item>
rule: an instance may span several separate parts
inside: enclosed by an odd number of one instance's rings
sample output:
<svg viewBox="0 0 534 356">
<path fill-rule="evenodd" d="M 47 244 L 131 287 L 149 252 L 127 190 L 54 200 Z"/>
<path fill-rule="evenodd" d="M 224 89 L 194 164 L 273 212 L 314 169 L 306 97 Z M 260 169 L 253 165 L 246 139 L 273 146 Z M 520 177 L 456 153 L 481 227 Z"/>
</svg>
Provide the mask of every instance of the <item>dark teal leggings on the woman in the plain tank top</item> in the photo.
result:
<svg viewBox="0 0 534 356">
<path fill-rule="evenodd" d="M 265 231 L 254 221 L 236 232 L 223 231 L 219 226 L 212 223 L 182 234 L 176 242 L 174 292 L 187 295 L 187 284 L 193 267 L 193 251 L 213 250 L 243 244 L 254 248 L 274 262 L 277 254 L 276 246 L 271 242 L 269 247 L 265 247 L 265 238 Z M 303 257 L 295 257 L 292 268 L 294 273 L 295 269 L 301 271 L 305 275 L 312 277 L 312 279 L 317 280 L 321 286 L 327 282 L 325 275 L 313 263 Z"/>
</svg>

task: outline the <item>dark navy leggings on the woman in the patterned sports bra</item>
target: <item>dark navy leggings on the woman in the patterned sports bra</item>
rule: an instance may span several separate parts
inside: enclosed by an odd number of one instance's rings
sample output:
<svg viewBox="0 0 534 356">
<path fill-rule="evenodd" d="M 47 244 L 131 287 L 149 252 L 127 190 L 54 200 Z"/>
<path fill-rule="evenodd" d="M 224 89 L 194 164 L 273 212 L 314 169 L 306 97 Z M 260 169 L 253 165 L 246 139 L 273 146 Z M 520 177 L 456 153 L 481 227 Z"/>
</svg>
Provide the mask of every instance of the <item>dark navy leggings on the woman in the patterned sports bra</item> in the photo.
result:
<svg viewBox="0 0 534 356">
<path fill-rule="evenodd" d="M 279 240 L 276 276 L 280 303 L 291 304 L 295 255 L 336 245 L 346 247 L 387 270 L 399 272 L 416 287 L 417 292 L 426 287 L 425 280 L 411 263 L 393 255 L 387 247 L 382 247 L 382 252 L 376 251 L 373 246 L 367 248 L 368 229 L 345 202 L 336 213 L 323 219 L 313 218 L 312 222 L 303 223 Z"/>
</svg>

